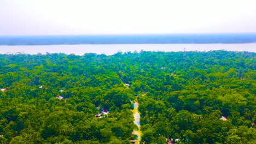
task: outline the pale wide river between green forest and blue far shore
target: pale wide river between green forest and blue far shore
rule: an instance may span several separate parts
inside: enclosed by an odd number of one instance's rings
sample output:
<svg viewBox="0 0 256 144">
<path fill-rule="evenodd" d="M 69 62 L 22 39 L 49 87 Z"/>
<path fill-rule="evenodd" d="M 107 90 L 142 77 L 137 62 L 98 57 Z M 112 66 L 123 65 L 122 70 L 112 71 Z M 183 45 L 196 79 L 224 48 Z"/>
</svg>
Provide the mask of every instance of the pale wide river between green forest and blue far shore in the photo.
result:
<svg viewBox="0 0 256 144">
<path fill-rule="evenodd" d="M 107 44 L 107 45 L 0 45 L 0 53 L 27 53 L 37 54 L 66 53 L 84 55 L 84 53 L 97 53 L 113 55 L 121 52 L 143 51 L 248 51 L 256 52 L 256 43 L 249 44 Z"/>
</svg>

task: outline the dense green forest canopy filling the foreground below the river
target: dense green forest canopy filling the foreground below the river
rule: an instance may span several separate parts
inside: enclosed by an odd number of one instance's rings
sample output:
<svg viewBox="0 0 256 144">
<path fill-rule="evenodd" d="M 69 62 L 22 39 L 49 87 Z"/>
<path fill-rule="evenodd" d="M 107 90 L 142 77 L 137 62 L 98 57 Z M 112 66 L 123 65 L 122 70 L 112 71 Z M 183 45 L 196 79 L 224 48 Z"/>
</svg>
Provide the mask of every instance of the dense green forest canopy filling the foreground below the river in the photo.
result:
<svg viewBox="0 0 256 144">
<path fill-rule="evenodd" d="M 256 143 L 255 56 L 0 55 L 0 143 Z"/>
</svg>

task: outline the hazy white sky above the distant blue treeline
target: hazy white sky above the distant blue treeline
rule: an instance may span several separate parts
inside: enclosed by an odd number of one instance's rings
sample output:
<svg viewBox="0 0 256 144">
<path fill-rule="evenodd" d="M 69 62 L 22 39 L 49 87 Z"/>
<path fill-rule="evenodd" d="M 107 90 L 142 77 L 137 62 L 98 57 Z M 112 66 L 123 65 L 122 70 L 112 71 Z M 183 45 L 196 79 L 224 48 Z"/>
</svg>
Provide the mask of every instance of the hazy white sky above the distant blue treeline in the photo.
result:
<svg viewBox="0 0 256 144">
<path fill-rule="evenodd" d="M 255 0 L 0 0 L 0 35 L 256 33 Z"/>
</svg>

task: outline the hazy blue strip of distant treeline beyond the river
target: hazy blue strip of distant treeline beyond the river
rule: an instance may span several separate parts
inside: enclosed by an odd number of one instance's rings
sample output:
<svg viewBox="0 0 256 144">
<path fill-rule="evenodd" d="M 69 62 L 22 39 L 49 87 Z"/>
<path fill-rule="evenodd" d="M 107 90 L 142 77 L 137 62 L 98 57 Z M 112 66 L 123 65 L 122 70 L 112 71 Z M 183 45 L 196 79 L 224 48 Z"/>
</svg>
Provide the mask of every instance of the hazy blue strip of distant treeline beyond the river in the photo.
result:
<svg viewBox="0 0 256 144">
<path fill-rule="evenodd" d="M 241 44 L 255 43 L 256 34 L 137 34 L 0 36 L 0 45 L 75 44 Z"/>
</svg>

